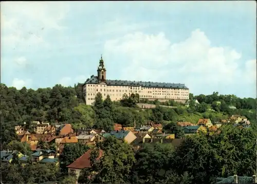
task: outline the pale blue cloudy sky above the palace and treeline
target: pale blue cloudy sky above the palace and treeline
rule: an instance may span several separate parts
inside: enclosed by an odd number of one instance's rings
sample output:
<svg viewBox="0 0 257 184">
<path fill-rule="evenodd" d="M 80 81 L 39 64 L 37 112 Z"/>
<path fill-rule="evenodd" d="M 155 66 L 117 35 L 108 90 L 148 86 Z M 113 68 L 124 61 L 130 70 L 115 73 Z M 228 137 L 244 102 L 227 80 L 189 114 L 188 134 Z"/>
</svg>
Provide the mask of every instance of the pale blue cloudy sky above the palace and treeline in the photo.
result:
<svg viewBox="0 0 257 184">
<path fill-rule="evenodd" d="M 1 83 L 107 79 L 256 97 L 255 1 L 1 2 Z"/>
</svg>

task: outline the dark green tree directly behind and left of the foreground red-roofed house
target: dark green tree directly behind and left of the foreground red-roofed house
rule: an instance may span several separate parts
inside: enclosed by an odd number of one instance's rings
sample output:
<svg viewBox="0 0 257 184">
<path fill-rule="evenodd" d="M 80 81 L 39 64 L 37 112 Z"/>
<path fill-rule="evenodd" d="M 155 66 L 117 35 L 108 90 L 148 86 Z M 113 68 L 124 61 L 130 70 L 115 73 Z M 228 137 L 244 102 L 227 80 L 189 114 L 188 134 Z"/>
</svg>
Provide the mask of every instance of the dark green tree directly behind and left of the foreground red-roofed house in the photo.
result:
<svg viewBox="0 0 257 184">
<path fill-rule="evenodd" d="M 61 172 L 67 172 L 66 166 L 74 162 L 88 150 L 88 146 L 80 142 L 75 144 L 65 144 L 64 149 L 59 157 Z"/>
</svg>

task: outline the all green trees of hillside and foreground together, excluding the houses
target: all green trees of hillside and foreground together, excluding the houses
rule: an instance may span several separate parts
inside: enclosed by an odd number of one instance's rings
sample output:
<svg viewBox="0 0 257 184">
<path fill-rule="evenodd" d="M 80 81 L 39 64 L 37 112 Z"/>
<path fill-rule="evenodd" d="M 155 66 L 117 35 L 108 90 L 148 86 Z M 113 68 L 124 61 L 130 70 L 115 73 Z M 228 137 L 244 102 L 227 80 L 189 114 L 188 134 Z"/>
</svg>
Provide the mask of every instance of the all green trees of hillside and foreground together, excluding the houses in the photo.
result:
<svg viewBox="0 0 257 184">
<path fill-rule="evenodd" d="M 176 121 L 191 121 L 207 117 L 211 120 L 227 118 L 232 114 L 241 114 L 251 121 L 250 128 L 222 126 L 215 133 L 199 134 L 185 138 L 182 144 L 174 148 L 170 144 L 145 144 L 134 152 L 130 145 L 114 137 L 107 138 L 94 148 L 90 171 L 98 173 L 88 178 L 89 170 L 83 170 L 81 183 L 206 183 L 215 182 L 216 177 L 233 174 L 252 176 L 256 174 L 256 99 L 238 98 L 235 95 L 193 96 L 199 105 L 190 101 L 190 107 L 169 100 L 166 103 L 141 101 L 138 95 L 123 96 L 119 102 L 109 97 L 102 99 L 97 94 L 95 105 L 84 105 L 81 84 L 74 87 L 56 85 L 53 88 L 17 90 L 1 84 L 1 146 L 16 140 L 14 126 L 26 122 L 30 129 L 31 121 L 49 121 L 51 123 L 70 123 L 75 129 L 80 127 L 112 130 L 114 123 L 123 126 L 143 125 L 149 120 L 161 122 L 164 131 L 176 132 L 176 137 L 183 133 L 176 126 Z M 217 103 L 220 101 L 221 103 Z M 137 107 L 138 102 L 153 103 L 154 109 Z M 166 108 L 159 105 L 176 106 Z M 237 109 L 229 109 L 233 105 Z M 176 129 L 176 130 L 175 130 Z M 16 149 L 29 151 L 26 144 L 16 143 Z M 1 147 L 3 148 L 3 147 Z M 67 144 L 60 155 L 60 169 L 52 165 L 28 164 L 22 168 L 13 158 L 12 164 L 1 173 L 2 182 L 40 183 L 59 180 L 59 183 L 74 183 L 72 175 L 67 175 L 66 166 L 81 156 L 89 148 L 85 145 Z M 97 150 L 105 151 L 105 156 L 96 160 Z M 28 174 L 30 173 L 30 174 Z M 45 173 L 42 175 L 42 173 Z"/>
</svg>

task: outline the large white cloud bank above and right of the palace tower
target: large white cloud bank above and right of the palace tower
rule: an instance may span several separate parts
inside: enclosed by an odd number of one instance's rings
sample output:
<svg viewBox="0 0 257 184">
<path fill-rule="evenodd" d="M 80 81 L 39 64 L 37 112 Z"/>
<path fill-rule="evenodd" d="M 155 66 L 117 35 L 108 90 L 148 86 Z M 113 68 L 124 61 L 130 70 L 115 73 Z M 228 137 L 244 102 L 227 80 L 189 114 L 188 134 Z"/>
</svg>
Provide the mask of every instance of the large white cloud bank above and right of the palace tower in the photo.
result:
<svg viewBox="0 0 257 184">
<path fill-rule="evenodd" d="M 235 85 L 253 76 L 253 61 L 239 67 L 241 54 L 227 47 L 213 47 L 199 29 L 180 43 L 171 43 L 164 33 L 141 32 L 107 40 L 106 55 L 127 58 L 122 78 L 130 80 L 185 83 L 190 89 L 215 90 L 221 85 Z M 242 72 L 245 77 L 241 77 Z M 133 73 L 133 74 L 132 74 Z"/>
</svg>

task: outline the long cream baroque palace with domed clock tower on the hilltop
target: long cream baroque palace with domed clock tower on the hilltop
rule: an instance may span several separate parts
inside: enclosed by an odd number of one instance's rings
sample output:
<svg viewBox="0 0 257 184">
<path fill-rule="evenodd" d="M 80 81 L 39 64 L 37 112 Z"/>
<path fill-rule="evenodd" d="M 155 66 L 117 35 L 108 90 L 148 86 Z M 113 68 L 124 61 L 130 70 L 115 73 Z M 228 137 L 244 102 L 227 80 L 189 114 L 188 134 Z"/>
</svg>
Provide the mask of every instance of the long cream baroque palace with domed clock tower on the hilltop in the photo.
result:
<svg viewBox="0 0 257 184">
<path fill-rule="evenodd" d="M 189 99 L 189 89 L 184 84 L 153 83 L 129 80 L 106 80 L 106 69 L 101 56 L 97 70 L 98 75 L 91 75 L 83 84 L 83 94 L 86 105 L 92 105 L 97 93 L 101 93 L 103 99 L 107 95 L 112 101 L 121 100 L 123 94 L 130 96 L 138 93 L 140 99 L 167 101 L 174 99 L 185 103 Z"/>
</svg>

